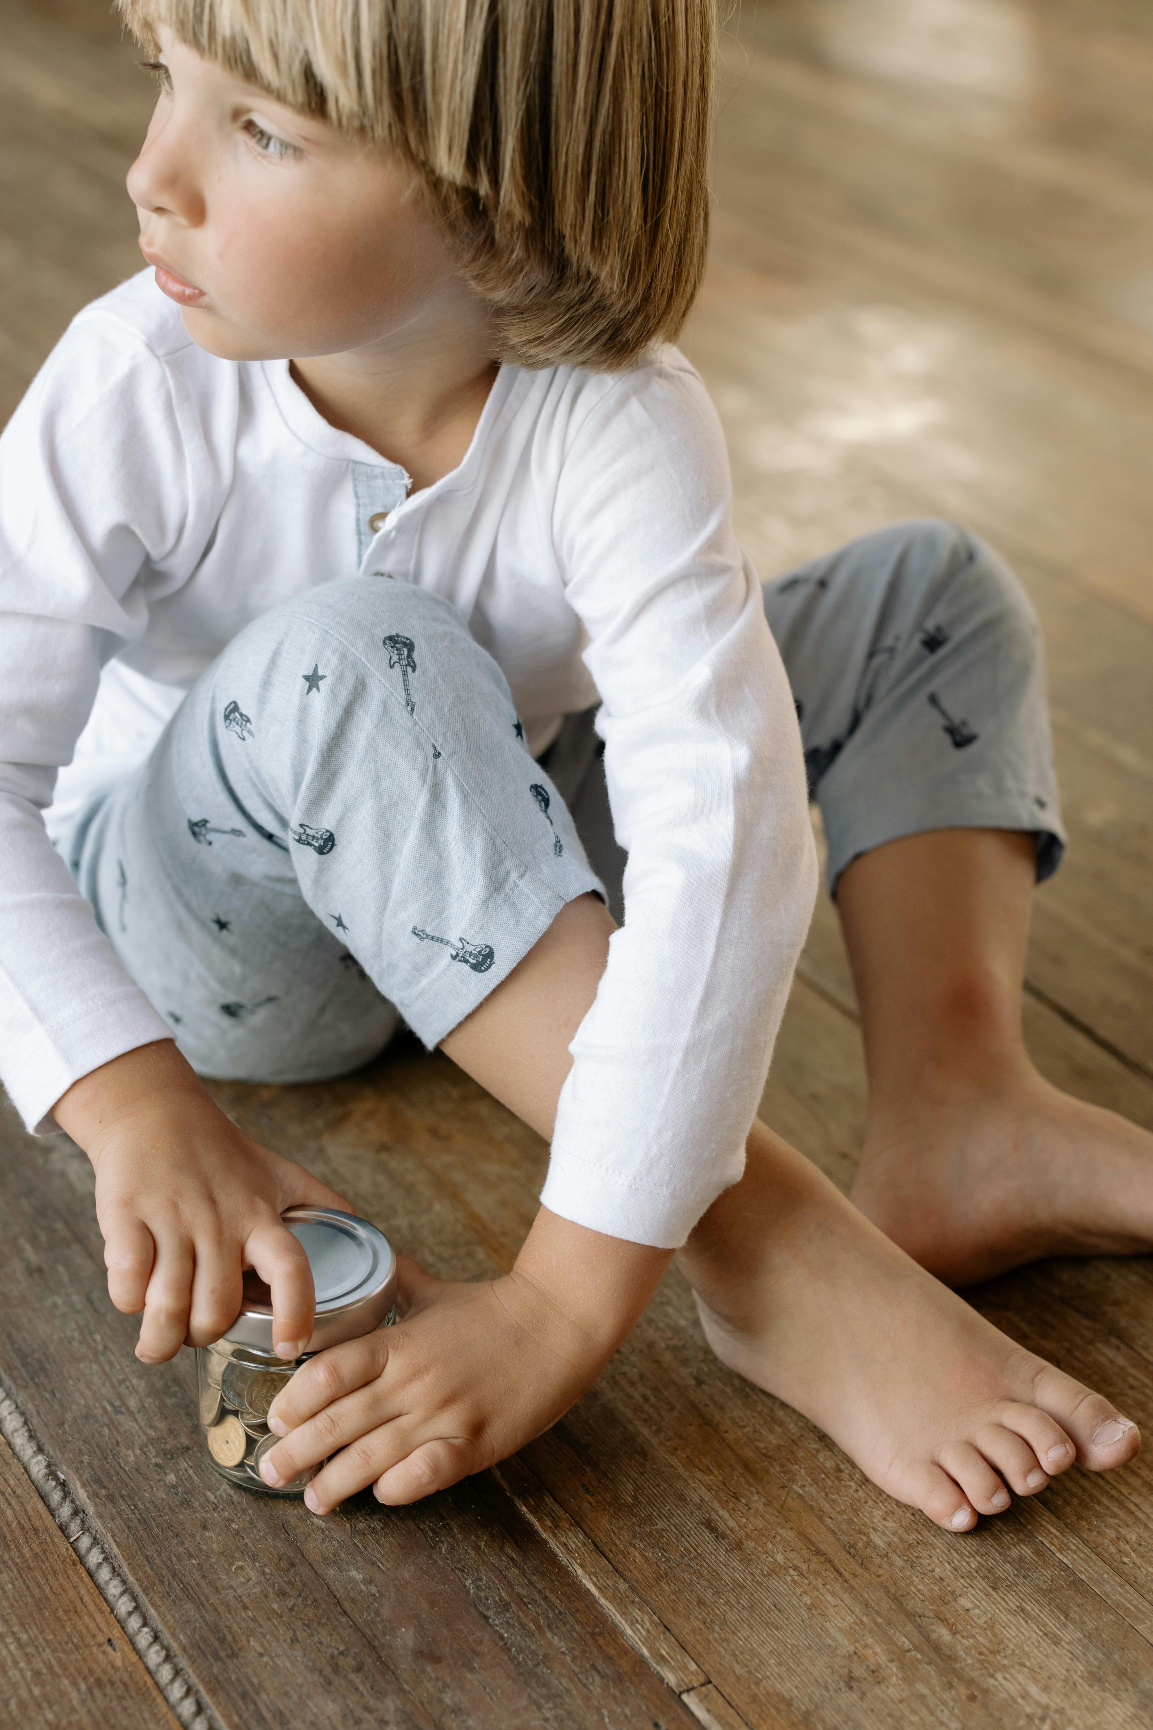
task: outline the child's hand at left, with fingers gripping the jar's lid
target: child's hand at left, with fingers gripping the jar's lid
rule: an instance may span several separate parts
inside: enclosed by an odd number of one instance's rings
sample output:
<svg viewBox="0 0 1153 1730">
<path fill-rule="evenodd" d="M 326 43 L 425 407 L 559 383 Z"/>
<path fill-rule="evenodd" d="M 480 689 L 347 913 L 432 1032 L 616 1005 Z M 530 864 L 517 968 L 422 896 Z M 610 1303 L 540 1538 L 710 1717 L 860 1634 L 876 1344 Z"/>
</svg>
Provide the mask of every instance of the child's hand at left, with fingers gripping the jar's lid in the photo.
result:
<svg viewBox="0 0 1153 1730">
<path fill-rule="evenodd" d="M 143 1310 L 143 1363 L 220 1339 L 240 1311 L 244 1268 L 271 1287 L 277 1353 L 299 1356 L 313 1275 L 280 1214 L 301 1202 L 353 1213 L 342 1195 L 242 1135 L 168 1040 L 93 1069 L 54 1116 L 95 1169 L 109 1298 Z"/>
</svg>

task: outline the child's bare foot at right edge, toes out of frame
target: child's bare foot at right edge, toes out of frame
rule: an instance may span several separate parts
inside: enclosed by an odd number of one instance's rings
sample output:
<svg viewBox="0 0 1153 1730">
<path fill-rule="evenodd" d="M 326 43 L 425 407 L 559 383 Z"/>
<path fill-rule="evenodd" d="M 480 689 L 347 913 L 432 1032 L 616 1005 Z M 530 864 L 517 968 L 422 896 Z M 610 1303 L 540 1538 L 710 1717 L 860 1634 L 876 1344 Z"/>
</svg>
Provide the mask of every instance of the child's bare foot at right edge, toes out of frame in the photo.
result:
<svg viewBox="0 0 1153 1730">
<path fill-rule="evenodd" d="M 947 1285 L 1153 1247 L 1153 1135 L 1032 1067 L 876 1111 L 852 1201 Z"/>
</svg>

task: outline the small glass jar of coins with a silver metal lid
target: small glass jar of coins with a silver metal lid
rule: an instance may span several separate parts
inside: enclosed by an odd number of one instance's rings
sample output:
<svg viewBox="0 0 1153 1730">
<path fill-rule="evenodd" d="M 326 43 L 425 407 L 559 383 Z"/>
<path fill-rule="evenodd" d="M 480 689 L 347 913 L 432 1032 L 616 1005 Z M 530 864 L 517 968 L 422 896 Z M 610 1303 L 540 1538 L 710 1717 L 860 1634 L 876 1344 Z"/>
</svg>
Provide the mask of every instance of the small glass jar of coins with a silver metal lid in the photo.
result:
<svg viewBox="0 0 1153 1730">
<path fill-rule="evenodd" d="M 221 1477 L 266 1496 L 303 1496 L 323 1462 L 280 1490 L 259 1476 L 261 1460 L 280 1439 L 268 1429 L 270 1406 L 308 1358 L 396 1320 L 396 1256 L 387 1237 L 353 1213 L 290 1208 L 283 1221 L 313 1270 L 316 1317 L 308 1348 L 299 1358 L 277 1356 L 271 1294 L 247 1273 L 237 1320 L 223 1339 L 195 1348 L 197 1398 L 207 1458 Z"/>
</svg>

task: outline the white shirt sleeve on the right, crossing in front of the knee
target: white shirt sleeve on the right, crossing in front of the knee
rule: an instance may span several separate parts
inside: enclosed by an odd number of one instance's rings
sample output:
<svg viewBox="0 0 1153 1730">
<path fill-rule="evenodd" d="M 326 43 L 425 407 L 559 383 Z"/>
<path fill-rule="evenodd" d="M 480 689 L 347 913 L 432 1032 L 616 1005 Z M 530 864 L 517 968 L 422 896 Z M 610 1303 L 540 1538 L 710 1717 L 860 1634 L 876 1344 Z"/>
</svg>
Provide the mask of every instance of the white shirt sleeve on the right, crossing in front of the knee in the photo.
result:
<svg viewBox="0 0 1153 1730">
<path fill-rule="evenodd" d="M 555 503 L 629 858 L 541 1201 L 666 1249 L 742 1175 L 816 894 L 797 718 L 729 495 L 674 355 L 579 422 Z"/>
</svg>

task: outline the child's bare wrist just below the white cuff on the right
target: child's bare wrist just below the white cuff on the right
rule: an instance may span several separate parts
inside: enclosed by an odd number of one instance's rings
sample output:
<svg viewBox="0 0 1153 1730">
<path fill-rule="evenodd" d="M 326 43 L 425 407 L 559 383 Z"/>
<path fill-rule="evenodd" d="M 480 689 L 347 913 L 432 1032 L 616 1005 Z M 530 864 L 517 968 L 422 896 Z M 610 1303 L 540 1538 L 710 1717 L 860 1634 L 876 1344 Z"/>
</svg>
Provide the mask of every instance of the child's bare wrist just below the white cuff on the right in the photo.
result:
<svg viewBox="0 0 1153 1730">
<path fill-rule="evenodd" d="M 671 1249 L 607 1237 L 541 1208 L 510 1275 L 513 1287 L 541 1299 L 560 1349 L 602 1362 L 640 1320 L 660 1284 Z"/>
</svg>

